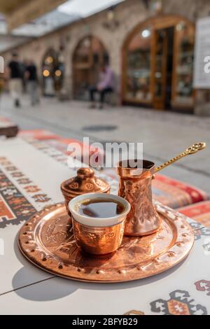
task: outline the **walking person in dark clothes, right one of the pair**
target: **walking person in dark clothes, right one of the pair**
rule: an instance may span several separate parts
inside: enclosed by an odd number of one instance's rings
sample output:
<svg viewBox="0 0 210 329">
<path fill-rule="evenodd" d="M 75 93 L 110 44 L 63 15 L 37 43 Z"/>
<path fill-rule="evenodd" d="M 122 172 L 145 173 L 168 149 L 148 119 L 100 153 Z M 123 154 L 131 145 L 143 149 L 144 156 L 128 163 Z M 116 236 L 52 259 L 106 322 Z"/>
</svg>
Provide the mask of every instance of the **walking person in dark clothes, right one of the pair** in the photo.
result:
<svg viewBox="0 0 210 329">
<path fill-rule="evenodd" d="M 34 106 L 39 103 L 38 97 L 38 78 L 37 69 L 33 61 L 28 61 L 26 65 L 25 78 L 31 99 L 31 105 Z"/>
</svg>

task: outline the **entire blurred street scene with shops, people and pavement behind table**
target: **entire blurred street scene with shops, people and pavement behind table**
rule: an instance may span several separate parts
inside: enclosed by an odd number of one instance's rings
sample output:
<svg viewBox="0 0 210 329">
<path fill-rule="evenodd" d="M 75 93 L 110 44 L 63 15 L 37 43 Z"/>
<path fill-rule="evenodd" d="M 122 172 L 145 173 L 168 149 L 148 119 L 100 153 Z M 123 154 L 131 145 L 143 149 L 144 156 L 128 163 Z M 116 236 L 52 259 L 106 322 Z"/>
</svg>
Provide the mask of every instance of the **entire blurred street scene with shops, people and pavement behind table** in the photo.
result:
<svg viewBox="0 0 210 329">
<path fill-rule="evenodd" d="M 22 130 L 139 141 L 155 163 L 210 141 L 208 0 L 0 0 L 0 55 Z M 210 191 L 208 151 L 166 174 Z"/>
</svg>

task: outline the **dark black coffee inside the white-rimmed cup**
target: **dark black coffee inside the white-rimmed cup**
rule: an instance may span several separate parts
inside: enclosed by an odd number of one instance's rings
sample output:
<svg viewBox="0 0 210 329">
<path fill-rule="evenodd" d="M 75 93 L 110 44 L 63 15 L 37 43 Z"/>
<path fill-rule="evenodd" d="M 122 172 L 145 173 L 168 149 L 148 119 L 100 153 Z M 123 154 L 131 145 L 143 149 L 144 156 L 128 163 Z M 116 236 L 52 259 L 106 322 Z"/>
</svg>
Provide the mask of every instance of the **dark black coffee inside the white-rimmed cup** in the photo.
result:
<svg viewBox="0 0 210 329">
<path fill-rule="evenodd" d="M 111 199 L 92 199 L 81 202 L 78 214 L 94 218 L 109 218 L 122 214 L 125 207 L 120 202 Z"/>
</svg>

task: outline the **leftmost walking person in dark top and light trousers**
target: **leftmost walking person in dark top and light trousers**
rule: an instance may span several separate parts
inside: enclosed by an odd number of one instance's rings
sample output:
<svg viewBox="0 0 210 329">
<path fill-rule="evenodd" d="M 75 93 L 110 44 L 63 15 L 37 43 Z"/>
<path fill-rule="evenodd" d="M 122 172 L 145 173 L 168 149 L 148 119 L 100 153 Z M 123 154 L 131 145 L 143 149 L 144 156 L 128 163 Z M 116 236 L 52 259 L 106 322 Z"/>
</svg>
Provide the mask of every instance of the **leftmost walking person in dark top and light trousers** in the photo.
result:
<svg viewBox="0 0 210 329">
<path fill-rule="evenodd" d="M 22 70 L 18 60 L 18 54 L 13 53 L 11 61 L 8 63 L 9 89 L 15 107 L 20 107 L 20 97 L 22 94 Z"/>
</svg>

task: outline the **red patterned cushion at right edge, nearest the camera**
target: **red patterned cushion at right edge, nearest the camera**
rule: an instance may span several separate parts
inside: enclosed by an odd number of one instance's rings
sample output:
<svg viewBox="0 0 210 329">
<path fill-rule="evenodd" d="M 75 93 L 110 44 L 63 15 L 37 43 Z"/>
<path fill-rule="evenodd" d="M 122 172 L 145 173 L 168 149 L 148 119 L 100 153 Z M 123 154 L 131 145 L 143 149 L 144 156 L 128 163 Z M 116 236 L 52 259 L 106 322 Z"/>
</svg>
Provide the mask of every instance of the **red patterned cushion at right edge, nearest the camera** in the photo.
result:
<svg viewBox="0 0 210 329">
<path fill-rule="evenodd" d="M 190 204 L 179 208 L 179 212 L 210 228 L 210 201 Z"/>
</svg>

